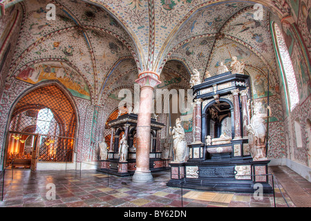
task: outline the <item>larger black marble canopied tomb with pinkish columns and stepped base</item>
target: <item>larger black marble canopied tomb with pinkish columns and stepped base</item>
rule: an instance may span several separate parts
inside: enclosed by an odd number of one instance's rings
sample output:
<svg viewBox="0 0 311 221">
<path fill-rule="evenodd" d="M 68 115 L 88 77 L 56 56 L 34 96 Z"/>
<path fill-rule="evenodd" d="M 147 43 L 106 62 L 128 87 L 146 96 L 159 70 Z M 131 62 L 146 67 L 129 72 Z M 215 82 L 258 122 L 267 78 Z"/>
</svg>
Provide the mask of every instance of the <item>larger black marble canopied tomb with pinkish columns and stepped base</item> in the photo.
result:
<svg viewBox="0 0 311 221">
<path fill-rule="evenodd" d="M 268 183 L 269 160 L 255 160 L 249 151 L 247 126 L 251 124 L 249 76 L 232 72 L 207 77 L 194 84 L 194 142 L 187 162 L 171 162 L 168 186 L 209 191 L 254 193 Z"/>
</svg>

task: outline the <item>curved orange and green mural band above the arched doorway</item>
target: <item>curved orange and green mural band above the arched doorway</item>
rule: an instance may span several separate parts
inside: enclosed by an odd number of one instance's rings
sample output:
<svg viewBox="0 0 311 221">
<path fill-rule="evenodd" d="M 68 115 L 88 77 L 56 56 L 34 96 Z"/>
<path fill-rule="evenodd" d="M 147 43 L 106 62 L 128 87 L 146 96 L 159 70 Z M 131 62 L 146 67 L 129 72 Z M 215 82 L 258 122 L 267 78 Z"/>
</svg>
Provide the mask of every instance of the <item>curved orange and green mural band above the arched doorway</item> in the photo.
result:
<svg viewBox="0 0 311 221">
<path fill-rule="evenodd" d="M 75 97 L 90 99 L 91 95 L 83 77 L 77 74 L 72 68 L 63 63 L 35 64 L 21 70 L 16 77 L 19 80 L 30 84 L 37 84 L 40 81 L 60 81 Z"/>
</svg>

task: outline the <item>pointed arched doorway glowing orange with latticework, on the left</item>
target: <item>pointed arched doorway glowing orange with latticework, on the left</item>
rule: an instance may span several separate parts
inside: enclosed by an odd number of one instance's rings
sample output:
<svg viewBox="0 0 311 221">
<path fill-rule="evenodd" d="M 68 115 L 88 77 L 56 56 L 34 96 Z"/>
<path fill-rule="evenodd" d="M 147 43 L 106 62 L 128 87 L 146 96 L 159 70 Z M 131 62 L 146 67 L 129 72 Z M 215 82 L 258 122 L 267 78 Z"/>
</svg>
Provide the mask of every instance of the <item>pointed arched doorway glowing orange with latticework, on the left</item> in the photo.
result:
<svg viewBox="0 0 311 221">
<path fill-rule="evenodd" d="M 73 162 L 77 116 L 56 85 L 41 86 L 23 95 L 10 116 L 7 164 L 30 166 L 37 162 Z"/>
</svg>

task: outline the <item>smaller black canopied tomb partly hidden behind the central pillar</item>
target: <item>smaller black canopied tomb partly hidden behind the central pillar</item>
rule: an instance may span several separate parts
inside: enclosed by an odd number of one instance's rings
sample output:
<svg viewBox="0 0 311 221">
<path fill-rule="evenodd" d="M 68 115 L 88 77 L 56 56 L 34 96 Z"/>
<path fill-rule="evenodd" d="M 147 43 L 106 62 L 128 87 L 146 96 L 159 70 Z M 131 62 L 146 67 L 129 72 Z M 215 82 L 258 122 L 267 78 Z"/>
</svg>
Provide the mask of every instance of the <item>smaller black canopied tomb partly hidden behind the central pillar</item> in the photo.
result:
<svg viewBox="0 0 311 221">
<path fill-rule="evenodd" d="M 117 176 L 133 175 L 136 169 L 138 115 L 126 113 L 108 122 L 111 128 L 111 146 L 107 160 L 100 161 L 97 171 Z M 149 169 L 151 172 L 167 169 L 167 160 L 162 159 L 159 132 L 164 124 L 151 118 L 151 149 Z M 147 135 L 146 135 L 147 136 Z"/>
</svg>

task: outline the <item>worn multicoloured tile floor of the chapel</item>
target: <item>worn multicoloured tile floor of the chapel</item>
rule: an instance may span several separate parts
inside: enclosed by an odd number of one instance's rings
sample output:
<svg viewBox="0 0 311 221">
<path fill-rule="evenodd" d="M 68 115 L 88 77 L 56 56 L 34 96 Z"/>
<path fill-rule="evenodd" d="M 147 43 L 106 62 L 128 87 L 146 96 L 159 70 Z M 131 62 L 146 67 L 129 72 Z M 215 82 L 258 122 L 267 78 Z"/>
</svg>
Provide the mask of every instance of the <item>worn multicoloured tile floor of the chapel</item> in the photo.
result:
<svg viewBox="0 0 311 221">
<path fill-rule="evenodd" d="M 311 184 L 285 166 L 272 166 L 276 175 L 277 207 L 310 206 Z M 247 193 L 218 193 L 166 186 L 169 171 L 153 173 L 154 182 L 135 184 L 131 177 L 115 177 L 96 171 L 7 170 L 1 207 L 273 207 L 273 194 L 256 200 Z M 109 182 L 109 183 L 108 183 Z M 55 184 L 55 199 L 46 194 Z M 283 200 L 282 191 L 285 200 Z M 299 192 L 300 191 L 300 192 Z M 297 194 L 303 197 L 299 200 Z M 299 196 L 299 195 L 298 195 Z"/>
</svg>

